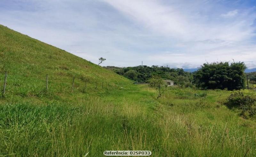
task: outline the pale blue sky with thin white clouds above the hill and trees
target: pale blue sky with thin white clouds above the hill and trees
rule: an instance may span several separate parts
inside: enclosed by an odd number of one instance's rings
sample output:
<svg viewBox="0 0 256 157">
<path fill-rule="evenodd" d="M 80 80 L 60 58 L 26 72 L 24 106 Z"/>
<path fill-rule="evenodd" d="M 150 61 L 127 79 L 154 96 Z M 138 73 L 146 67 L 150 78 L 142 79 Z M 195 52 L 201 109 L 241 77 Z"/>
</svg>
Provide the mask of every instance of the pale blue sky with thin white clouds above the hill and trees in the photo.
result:
<svg viewBox="0 0 256 157">
<path fill-rule="evenodd" d="M 102 66 L 256 68 L 256 0 L 0 0 L 0 24 Z"/>
</svg>

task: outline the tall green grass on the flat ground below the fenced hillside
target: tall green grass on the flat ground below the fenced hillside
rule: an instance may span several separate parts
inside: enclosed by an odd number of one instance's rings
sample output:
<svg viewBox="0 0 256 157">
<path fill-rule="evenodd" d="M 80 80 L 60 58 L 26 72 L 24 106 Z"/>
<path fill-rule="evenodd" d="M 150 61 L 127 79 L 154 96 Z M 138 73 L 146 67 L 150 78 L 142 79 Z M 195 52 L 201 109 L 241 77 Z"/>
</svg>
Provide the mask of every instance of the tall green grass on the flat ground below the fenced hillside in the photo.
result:
<svg viewBox="0 0 256 157">
<path fill-rule="evenodd" d="M 0 106 L 0 152 L 103 156 L 105 150 L 150 150 L 153 156 L 253 156 L 255 126 L 219 104 L 228 92 L 207 91 L 204 101 L 195 92 L 200 91 L 168 89 L 156 99 L 154 89 L 131 86 L 76 99 L 72 105 L 6 103 Z"/>
</svg>

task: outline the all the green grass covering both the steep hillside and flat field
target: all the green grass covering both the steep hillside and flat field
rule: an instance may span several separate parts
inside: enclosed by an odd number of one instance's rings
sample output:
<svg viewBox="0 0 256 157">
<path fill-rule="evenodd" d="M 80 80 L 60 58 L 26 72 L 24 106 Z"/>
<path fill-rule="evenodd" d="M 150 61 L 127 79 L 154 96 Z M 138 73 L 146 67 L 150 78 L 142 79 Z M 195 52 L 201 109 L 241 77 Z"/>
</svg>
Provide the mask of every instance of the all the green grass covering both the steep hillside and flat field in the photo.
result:
<svg viewBox="0 0 256 157">
<path fill-rule="evenodd" d="M 154 88 L 132 85 L 4 26 L 0 56 L 1 86 L 8 72 L 6 94 L 0 95 L 0 156 L 98 157 L 105 150 L 149 150 L 157 157 L 256 154 L 255 119 L 223 105 L 228 91 L 163 88 L 157 99 Z"/>
</svg>

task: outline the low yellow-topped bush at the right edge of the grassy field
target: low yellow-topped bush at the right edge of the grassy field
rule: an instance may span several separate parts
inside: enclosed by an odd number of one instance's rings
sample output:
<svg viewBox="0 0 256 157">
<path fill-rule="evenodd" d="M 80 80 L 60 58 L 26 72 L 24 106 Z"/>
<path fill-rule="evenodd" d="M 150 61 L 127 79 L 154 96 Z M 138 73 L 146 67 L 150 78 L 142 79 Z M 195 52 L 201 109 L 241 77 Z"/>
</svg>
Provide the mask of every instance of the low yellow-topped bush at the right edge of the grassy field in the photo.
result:
<svg viewBox="0 0 256 157">
<path fill-rule="evenodd" d="M 226 105 L 229 108 L 237 107 L 242 109 L 243 113 L 248 112 L 249 115 L 256 114 L 256 98 L 255 96 L 245 95 L 243 92 L 233 92 L 228 96 Z"/>
</svg>

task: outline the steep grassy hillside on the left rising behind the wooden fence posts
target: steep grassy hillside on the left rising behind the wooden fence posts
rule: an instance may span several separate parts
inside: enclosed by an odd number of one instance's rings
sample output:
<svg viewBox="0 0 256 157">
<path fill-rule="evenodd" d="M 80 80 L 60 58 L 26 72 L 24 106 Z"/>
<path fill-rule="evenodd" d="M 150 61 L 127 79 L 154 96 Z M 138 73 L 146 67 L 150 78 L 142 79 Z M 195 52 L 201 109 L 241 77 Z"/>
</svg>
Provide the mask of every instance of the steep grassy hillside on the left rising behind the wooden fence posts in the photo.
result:
<svg viewBox="0 0 256 157">
<path fill-rule="evenodd" d="M 70 91 L 75 77 L 75 92 L 87 86 L 108 82 L 113 85 L 130 82 L 128 79 L 108 71 L 96 64 L 58 49 L 27 35 L 0 25 L 0 84 L 4 71 L 8 73 L 6 96 L 35 96 L 43 93 L 46 74 L 49 76 L 49 92 L 52 94 Z M 11 92 L 10 92 L 11 91 Z"/>
</svg>

